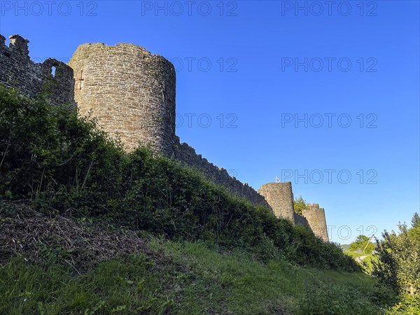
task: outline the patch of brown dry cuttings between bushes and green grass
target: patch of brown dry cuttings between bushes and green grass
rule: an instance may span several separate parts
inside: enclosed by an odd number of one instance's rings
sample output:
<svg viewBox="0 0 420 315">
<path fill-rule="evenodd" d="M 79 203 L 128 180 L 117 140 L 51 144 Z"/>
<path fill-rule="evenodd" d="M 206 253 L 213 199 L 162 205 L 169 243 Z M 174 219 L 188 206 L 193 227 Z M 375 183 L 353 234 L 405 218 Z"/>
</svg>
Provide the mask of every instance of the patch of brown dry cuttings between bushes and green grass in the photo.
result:
<svg viewBox="0 0 420 315">
<path fill-rule="evenodd" d="M 71 265 L 79 274 L 98 262 L 132 253 L 145 253 L 163 263 L 167 260 L 126 228 L 116 230 L 106 223 L 92 224 L 73 217 L 71 211 L 67 216 L 46 216 L 25 202 L 0 201 L 0 264 L 18 255 L 42 264 L 48 248 L 54 248 L 52 255 L 60 254 L 55 262 Z"/>
</svg>

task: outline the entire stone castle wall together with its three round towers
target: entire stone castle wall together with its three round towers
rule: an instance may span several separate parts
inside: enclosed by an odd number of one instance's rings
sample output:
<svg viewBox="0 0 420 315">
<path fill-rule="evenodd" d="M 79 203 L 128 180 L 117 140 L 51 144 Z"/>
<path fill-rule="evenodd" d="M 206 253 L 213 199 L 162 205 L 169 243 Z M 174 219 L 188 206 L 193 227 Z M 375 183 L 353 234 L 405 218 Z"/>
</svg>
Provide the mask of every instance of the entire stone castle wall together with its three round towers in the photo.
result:
<svg viewBox="0 0 420 315">
<path fill-rule="evenodd" d="M 111 137 L 118 135 L 127 151 L 150 146 L 155 153 L 197 169 L 232 194 L 270 207 L 277 217 L 309 226 L 328 241 L 324 209 L 312 204 L 302 216 L 296 214 L 290 182 L 267 183 L 256 192 L 181 144 L 175 134 L 176 73 L 164 57 L 127 43 L 86 43 L 77 48 L 69 65 L 52 58 L 37 64 L 29 58 L 27 39 L 9 38 L 6 46 L 6 38 L 0 35 L 1 84 L 29 97 L 48 92 L 53 104 L 76 105 L 81 115 L 97 118 Z"/>
</svg>

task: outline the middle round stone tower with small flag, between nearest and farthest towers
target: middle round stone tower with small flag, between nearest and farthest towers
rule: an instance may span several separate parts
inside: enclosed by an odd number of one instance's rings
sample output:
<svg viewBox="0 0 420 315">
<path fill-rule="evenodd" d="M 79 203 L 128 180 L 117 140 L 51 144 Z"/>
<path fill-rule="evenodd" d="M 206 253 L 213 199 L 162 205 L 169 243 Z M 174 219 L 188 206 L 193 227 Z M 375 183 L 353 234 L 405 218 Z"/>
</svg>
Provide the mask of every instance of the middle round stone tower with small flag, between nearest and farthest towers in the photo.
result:
<svg viewBox="0 0 420 315">
<path fill-rule="evenodd" d="M 292 183 L 290 181 L 286 183 L 267 183 L 261 186 L 258 193 L 265 197 L 277 218 L 286 218 L 295 223 Z"/>
</svg>

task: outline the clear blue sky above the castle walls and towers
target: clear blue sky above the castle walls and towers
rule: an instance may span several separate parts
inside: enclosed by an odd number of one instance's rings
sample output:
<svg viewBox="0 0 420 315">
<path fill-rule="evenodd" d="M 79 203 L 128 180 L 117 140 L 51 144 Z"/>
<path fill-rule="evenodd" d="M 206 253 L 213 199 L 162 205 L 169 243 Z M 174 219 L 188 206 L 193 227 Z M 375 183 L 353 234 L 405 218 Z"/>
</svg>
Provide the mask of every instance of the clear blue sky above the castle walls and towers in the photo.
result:
<svg viewBox="0 0 420 315">
<path fill-rule="evenodd" d="M 418 1 L 0 1 L 37 61 L 172 60 L 181 141 L 255 189 L 292 181 L 342 244 L 419 211 L 419 29 Z"/>
</svg>

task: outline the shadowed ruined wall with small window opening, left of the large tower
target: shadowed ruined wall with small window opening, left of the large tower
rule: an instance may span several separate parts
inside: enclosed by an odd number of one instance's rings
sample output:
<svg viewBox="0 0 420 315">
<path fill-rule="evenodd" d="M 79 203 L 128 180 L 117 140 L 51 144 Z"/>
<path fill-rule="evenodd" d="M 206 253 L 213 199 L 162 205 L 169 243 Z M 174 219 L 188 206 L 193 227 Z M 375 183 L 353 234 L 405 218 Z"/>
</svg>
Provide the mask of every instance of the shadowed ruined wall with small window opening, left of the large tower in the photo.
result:
<svg viewBox="0 0 420 315">
<path fill-rule="evenodd" d="M 43 63 L 32 62 L 29 41 L 19 35 L 9 38 L 7 46 L 6 38 L 0 35 L 0 83 L 18 88 L 27 97 L 45 91 L 53 104 L 74 104 L 73 69 L 52 58 Z M 54 75 L 52 67 L 55 67 Z"/>
</svg>

